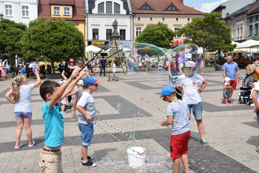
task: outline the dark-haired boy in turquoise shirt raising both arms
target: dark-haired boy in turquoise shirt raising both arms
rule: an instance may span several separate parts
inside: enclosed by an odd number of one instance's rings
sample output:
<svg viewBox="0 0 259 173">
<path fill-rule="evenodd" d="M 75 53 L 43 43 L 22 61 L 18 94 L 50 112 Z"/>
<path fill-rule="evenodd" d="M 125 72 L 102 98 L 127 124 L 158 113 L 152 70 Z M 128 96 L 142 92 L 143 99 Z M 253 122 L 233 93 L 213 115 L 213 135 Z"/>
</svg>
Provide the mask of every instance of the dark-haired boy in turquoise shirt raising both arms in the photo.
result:
<svg viewBox="0 0 259 173">
<path fill-rule="evenodd" d="M 60 86 L 55 81 L 44 81 L 40 85 L 40 96 L 46 102 L 42 107 L 44 120 L 44 147 L 40 151 L 41 172 L 62 172 L 62 154 L 60 151 L 64 139 L 64 119 L 59 102 L 77 84 L 77 82 L 86 74 L 88 69 L 74 70 L 71 77 Z M 78 78 L 76 78 L 78 76 Z M 75 79 L 76 78 L 76 79 Z"/>
</svg>

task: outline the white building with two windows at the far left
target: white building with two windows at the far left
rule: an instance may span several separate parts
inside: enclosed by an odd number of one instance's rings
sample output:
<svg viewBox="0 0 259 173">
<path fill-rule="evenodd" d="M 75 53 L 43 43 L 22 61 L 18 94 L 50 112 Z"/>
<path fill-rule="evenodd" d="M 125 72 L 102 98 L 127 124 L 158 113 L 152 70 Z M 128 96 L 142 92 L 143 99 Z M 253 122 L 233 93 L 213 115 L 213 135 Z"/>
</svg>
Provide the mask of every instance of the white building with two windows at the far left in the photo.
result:
<svg viewBox="0 0 259 173">
<path fill-rule="evenodd" d="M 30 20 L 37 19 L 37 4 L 37 0 L 0 0 L 0 14 L 5 19 L 28 25 Z"/>
</svg>

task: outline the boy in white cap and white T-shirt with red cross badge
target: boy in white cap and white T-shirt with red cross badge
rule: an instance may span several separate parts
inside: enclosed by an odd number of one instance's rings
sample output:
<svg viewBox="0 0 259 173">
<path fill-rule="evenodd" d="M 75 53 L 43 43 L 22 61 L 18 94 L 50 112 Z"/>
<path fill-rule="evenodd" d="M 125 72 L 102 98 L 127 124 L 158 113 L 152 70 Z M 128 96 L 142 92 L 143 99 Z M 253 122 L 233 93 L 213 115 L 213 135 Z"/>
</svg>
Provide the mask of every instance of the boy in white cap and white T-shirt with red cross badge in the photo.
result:
<svg viewBox="0 0 259 173">
<path fill-rule="evenodd" d="M 185 63 L 186 74 L 181 75 L 178 78 L 178 85 L 182 85 L 181 87 L 177 87 L 183 94 L 183 101 L 188 104 L 188 108 L 194 115 L 194 119 L 196 120 L 198 130 L 200 133 L 200 142 L 204 146 L 209 146 L 209 143 L 204 137 L 204 126 L 202 122 L 202 100 L 200 98 L 200 93 L 207 85 L 207 81 L 203 79 L 199 74 L 195 74 L 196 68 L 199 67 L 199 64 L 196 65 L 193 61 L 187 61 Z M 202 86 L 198 88 L 198 83 L 201 83 Z"/>
</svg>

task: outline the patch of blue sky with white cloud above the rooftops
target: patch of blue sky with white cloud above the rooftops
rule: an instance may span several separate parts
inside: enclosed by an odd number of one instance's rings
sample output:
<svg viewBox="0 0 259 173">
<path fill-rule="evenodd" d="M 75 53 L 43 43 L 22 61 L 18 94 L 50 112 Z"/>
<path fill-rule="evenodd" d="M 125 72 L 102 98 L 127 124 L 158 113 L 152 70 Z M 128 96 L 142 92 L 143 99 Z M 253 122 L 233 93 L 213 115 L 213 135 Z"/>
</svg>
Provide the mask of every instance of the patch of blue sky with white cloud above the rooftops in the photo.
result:
<svg viewBox="0 0 259 173">
<path fill-rule="evenodd" d="M 194 7 L 201 12 L 211 12 L 226 1 L 228 0 L 183 0 L 184 5 Z"/>
</svg>

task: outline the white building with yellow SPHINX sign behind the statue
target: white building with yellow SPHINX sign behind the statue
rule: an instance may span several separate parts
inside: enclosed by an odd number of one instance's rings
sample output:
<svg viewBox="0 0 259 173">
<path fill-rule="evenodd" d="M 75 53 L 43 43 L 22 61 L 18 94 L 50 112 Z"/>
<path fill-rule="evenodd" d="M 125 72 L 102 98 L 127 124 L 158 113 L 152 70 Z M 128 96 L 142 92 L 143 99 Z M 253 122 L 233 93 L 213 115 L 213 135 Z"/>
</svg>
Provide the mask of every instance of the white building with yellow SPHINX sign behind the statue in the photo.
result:
<svg viewBox="0 0 259 173">
<path fill-rule="evenodd" d="M 85 0 L 87 43 L 102 48 L 109 43 L 112 22 L 117 19 L 120 40 L 131 40 L 131 8 L 129 0 Z M 106 49 L 109 49 L 107 47 Z"/>
</svg>

